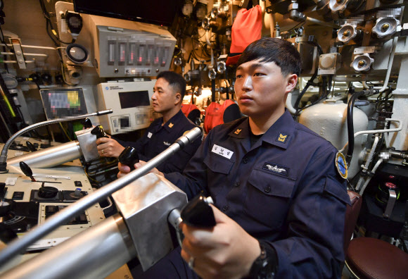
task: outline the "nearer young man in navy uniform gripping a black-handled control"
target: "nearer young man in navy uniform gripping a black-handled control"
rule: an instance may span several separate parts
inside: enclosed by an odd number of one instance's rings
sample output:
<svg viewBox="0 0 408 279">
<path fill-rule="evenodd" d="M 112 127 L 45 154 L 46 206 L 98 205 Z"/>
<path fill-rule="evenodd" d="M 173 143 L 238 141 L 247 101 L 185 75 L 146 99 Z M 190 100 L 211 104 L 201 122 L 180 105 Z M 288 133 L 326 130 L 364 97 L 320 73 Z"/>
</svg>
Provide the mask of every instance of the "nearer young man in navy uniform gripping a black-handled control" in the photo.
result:
<svg viewBox="0 0 408 279">
<path fill-rule="evenodd" d="M 210 195 L 217 225 L 183 224 L 184 261 L 175 249 L 146 278 L 340 278 L 350 199 L 336 148 L 285 109 L 300 68 L 283 39 L 243 51 L 235 93 L 248 117 L 212 129 L 182 175 L 165 175 L 189 199 Z"/>
</svg>

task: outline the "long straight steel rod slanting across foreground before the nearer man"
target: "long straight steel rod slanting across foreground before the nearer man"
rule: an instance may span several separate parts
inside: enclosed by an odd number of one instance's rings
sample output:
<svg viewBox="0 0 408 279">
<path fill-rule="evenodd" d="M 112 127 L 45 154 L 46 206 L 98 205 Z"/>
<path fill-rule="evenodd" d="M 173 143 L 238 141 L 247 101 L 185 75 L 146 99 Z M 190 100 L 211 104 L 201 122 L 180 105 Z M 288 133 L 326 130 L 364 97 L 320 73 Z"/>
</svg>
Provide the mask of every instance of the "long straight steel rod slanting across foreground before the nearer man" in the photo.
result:
<svg viewBox="0 0 408 279">
<path fill-rule="evenodd" d="M 202 132 L 200 128 L 193 128 L 187 132 L 186 135 L 179 137 L 179 139 L 177 139 L 176 142 L 170 145 L 170 147 L 168 147 L 165 151 L 162 151 L 162 153 L 158 154 L 158 156 L 155 156 L 153 159 L 148 161 L 144 166 L 136 168 L 134 171 L 128 173 L 122 178 L 110 182 L 108 185 L 101 187 L 92 194 L 79 199 L 74 204 L 48 218 L 43 225 L 34 228 L 30 231 L 30 233 L 27 233 L 23 237 L 13 240 L 0 252 L 0 266 L 13 259 L 13 257 L 18 253 L 24 252 L 25 249 L 30 246 L 30 244 L 40 240 L 42 237 L 50 233 L 51 230 L 58 228 L 64 222 L 69 221 L 70 218 L 76 216 L 79 211 L 88 209 L 92 204 L 96 204 L 102 199 L 108 197 L 113 192 L 122 189 L 122 187 L 125 187 L 130 182 L 133 182 L 137 178 L 145 175 L 152 168 L 155 168 L 155 166 L 160 165 L 160 163 L 172 156 L 172 154 L 174 154 L 176 151 L 179 151 L 179 149 L 184 147 L 184 145 L 193 142 L 193 140 L 196 140 L 201 135 Z"/>
</svg>

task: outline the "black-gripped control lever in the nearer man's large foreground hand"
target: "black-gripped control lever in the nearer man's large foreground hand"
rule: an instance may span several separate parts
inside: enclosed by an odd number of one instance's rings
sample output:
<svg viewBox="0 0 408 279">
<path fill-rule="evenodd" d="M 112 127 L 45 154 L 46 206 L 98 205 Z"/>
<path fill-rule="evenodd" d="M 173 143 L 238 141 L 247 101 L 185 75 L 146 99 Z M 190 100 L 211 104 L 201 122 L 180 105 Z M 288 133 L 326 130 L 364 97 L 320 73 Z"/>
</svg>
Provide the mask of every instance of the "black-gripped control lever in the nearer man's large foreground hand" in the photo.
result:
<svg viewBox="0 0 408 279">
<path fill-rule="evenodd" d="M 181 209 L 181 212 L 179 209 L 173 209 L 170 212 L 167 221 L 176 229 L 177 240 L 179 241 L 180 247 L 184 240 L 184 234 L 180 228 L 181 222 L 197 228 L 212 228 L 216 225 L 214 212 L 210 204 L 214 204 L 212 198 L 205 197 L 204 194 L 201 193 L 191 199 L 191 201 Z"/>
</svg>

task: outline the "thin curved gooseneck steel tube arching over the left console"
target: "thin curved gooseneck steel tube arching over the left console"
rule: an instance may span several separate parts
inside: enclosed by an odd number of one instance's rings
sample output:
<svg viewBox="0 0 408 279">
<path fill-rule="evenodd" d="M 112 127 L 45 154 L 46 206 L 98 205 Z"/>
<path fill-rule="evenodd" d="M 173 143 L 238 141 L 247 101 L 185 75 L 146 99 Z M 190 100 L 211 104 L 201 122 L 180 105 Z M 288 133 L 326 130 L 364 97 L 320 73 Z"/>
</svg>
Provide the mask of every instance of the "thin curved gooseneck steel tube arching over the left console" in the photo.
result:
<svg viewBox="0 0 408 279">
<path fill-rule="evenodd" d="M 39 128 L 39 127 L 49 125 L 49 124 L 52 124 L 52 123 L 59 123 L 59 122 L 66 122 L 66 121 L 71 121 L 71 120 L 78 120 L 78 119 L 82 119 L 82 118 L 87 118 L 89 116 L 103 116 L 104 114 L 108 114 L 108 113 L 112 113 L 112 112 L 113 111 L 111 109 L 107 109 L 106 111 L 96 111 L 95 113 L 88 113 L 88 114 L 84 114 L 82 116 L 72 116 L 72 117 L 67 117 L 67 118 L 58 118 L 58 119 L 47 120 L 47 121 L 43 121 L 43 122 L 40 122 L 40 123 L 30 125 L 30 126 L 24 128 L 24 129 L 16 132 L 14 135 L 12 135 L 8 139 L 6 144 L 4 144 L 3 150 L 1 150 L 0 163 L 6 163 L 8 148 L 10 147 L 10 145 L 14 142 L 14 140 L 18 136 L 23 135 L 25 132 L 28 132 L 30 130 L 34 130 L 35 128 Z"/>
</svg>

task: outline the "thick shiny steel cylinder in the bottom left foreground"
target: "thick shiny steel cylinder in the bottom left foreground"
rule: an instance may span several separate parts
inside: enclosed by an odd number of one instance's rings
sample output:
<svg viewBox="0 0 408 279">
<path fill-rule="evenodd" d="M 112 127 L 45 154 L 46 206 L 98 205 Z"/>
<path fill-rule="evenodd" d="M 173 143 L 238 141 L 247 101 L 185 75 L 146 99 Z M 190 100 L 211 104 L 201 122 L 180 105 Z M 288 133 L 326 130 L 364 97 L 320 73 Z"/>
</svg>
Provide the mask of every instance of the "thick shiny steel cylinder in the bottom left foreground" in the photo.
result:
<svg viewBox="0 0 408 279">
<path fill-rule="evenodd" d="M 20 263 L 0 278 L 106 278 L 136 256 L 120 214 Z"/>
</svg>

